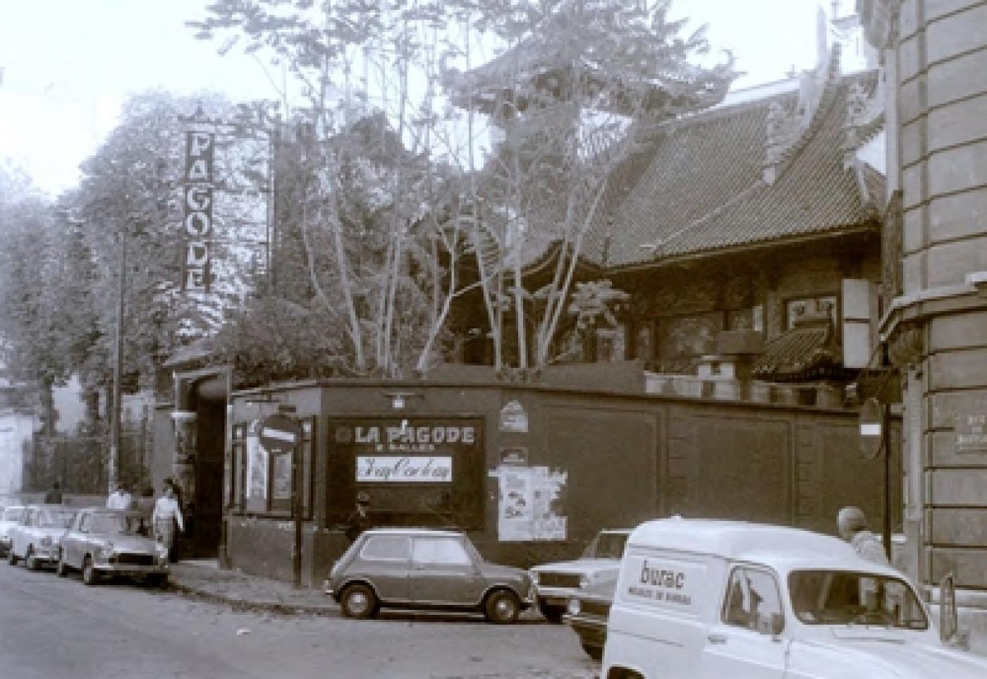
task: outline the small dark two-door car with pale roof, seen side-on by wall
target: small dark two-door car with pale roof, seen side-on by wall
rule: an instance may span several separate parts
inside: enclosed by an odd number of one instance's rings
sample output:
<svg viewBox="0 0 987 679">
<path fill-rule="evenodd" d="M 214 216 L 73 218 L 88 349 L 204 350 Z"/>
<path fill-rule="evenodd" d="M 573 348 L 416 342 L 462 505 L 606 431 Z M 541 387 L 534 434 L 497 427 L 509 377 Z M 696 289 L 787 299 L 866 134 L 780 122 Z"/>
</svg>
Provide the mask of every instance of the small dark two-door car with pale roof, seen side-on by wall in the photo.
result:
<svg viewBox="0 0 987 679">
<path fill-rule="evenodd" d="M 380 608 L 476 611 L 513 623 L 531 605 L 521 568 L 484 561 L 458 531 L 378 528 L 365 531 L 329 573 L 326 593 L 349 618 Z"/>
</svg>

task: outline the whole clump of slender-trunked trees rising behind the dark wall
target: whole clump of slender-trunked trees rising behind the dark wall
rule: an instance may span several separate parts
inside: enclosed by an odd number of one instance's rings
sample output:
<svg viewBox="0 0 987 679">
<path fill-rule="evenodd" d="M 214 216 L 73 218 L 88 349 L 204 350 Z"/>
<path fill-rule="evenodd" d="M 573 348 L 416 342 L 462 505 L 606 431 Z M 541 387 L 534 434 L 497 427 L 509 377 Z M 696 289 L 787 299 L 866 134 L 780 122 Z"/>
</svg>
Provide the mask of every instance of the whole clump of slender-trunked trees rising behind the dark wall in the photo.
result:
<svg viewBox="0 0 987 679">
<path fill-rule="evenodd" d="M 729 59 L 693 63 L 706 40 L 680 37 L 668 4 L 217 0 L 190 22 L 222 49 L 266 53 L 300 86 L 285 113 L 307 135 L 278 222 L 300 236 L 313 298 L 342 329 L 352 372 L 427 369 L 474 287 L 498 367 L 508 305 L 519 366 L 551 360 L 615 168 L 655 123 L 719 101 L 732 77 Z M 473 68 L 491 41 L 506 52 Z M 482 168 L 485 120 L 506 138 Z M 550 280 L 527 290 L 527 258 L 550 243 Z"/>
</svg>

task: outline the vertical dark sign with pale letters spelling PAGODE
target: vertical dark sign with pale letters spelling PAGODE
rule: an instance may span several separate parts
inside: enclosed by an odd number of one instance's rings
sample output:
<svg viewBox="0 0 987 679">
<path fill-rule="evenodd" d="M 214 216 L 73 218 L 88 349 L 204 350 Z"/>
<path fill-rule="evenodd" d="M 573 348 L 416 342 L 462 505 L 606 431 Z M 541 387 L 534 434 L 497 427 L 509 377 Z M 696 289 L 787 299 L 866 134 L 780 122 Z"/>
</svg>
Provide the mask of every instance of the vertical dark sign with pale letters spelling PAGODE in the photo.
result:
<svg viewBox="0 0 987 679">
<path fill-rule="evenodd" d="M 216 135 L 188 132 L 185 162 L 185 254 L 182 289 L 209 291 L 209 239 L 212 238 L 212 169 Z"/>
</svg>

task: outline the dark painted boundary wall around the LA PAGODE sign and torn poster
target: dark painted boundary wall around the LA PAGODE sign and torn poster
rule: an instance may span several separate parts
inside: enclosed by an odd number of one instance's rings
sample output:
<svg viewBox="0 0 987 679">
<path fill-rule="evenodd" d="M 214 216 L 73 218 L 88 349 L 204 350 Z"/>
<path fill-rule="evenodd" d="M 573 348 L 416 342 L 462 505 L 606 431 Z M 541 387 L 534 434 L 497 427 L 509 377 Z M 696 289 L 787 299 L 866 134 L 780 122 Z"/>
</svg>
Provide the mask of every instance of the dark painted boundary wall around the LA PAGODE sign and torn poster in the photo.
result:
<svg viewBox="0 0 987 679">
<path fill-rule="evenodd" d="M 395 412 L 388 396 L 410 392 Z M 234 397 L 234 422 L 268 415 L 257 393 Z M 480 417 L 486 469 L 482 528 L 471 532 L 493 561 L 530 566 L 577 554 L 601 527 L 634 526 L 681 513 L 797 525 L 832 533 L 839 507 L 859 504 L 879 530 L 883 463 L 858 452 L 853 412 L 735 404 L 549 389 L 527 385 L 443 385 L 327 381 L 275 391 L 272 398 L 316 416 L 314 513 L 305 525 L 303 580 L 318 585 L 346 545 L 327 518 L 328 422 L 363 416 Z M 500 408 L 524 406 L 529 431 L 503 433 Z M 501 447 L 526 447 L 531 467 L 568 477 L 555 509 L 568 520 L 567 539 L 500 542 L 497 538 Z M 892 445 L 892 450 L 899 446 Z M 892 507 L 900 507 L 900 467 L 895 464 Z M 352 480 L 338 484 L 353 492 Z M 893 525 L 900 524 L 900 511 Z M 228 509 L 231 566 L 282 579 L 291 577 L 290 522 L 285 517 L 241 515 Z M 440 524 L 437 524 L 440 525 Z"/>
</svg>

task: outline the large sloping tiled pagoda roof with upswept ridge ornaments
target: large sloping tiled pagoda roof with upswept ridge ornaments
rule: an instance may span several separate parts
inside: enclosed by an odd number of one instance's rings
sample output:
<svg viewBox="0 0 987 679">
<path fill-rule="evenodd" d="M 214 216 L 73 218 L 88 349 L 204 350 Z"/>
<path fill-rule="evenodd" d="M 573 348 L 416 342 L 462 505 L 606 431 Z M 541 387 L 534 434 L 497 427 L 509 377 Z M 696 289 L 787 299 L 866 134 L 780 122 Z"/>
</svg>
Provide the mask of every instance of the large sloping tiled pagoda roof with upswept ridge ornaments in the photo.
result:
<svg viewBox="0 0 987 679">
<path fill-rule="evenodd" d="M 763 179 L 768 111 L 774 102 L 794 106 L 795 93 L 665 125 L 646 169 L 612 179 L 608 211 L 587 234 L 585 257 L 645 264 L 871 222 L 873 207 L 854 170 L 844 168 L 850 82 L 839 83 L 773 184 Z M 870 189 L 873 178 L 865 178 Z"/>
</svg>

